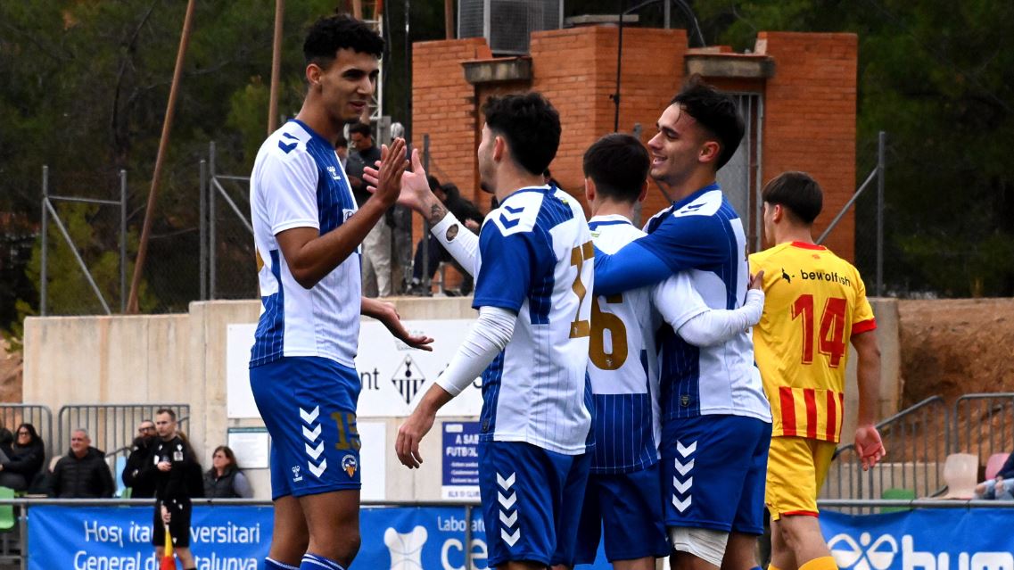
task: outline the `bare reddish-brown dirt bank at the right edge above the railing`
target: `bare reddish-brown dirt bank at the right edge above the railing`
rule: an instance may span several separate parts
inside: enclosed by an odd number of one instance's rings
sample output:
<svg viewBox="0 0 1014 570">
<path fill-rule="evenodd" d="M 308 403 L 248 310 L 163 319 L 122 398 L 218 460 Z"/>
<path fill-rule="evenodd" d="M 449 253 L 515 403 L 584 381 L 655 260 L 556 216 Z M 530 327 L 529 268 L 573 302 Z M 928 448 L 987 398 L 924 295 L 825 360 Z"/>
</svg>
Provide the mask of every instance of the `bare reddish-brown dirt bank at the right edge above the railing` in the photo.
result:
<svg viewBox="0 0 1014 570">
<path fill-rule="evenodd" d="M 903 300 L 902 406 L 1014 391 L 1014 299 Z"/>
</svg>

